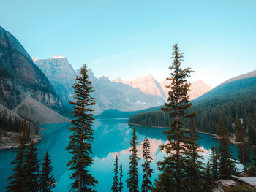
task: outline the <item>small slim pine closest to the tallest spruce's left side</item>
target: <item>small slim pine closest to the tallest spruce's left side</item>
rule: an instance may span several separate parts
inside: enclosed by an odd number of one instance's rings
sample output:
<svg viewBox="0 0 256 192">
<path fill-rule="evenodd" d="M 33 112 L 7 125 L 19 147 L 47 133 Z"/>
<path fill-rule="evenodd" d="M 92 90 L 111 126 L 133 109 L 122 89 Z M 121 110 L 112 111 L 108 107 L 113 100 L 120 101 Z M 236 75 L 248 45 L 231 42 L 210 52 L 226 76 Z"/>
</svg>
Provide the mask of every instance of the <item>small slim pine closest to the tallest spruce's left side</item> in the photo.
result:
<svg viewBox="0 0 256 192">
<path fill-rule="evenodd" d="M 151 153 L 150 153 L 150 142 L 148 138 L 145 138 L 142 143 L 143 148 L 143 158 L 145 159 L 143 167 L 143 181 L 141 186 L 141 191 L 148 192 L 148 190 L 152 190 L 152 182 L 150 178 L 152 177 L 153 169 L 151 169 L 150 164 L 152 161 Z"/>
</svg>

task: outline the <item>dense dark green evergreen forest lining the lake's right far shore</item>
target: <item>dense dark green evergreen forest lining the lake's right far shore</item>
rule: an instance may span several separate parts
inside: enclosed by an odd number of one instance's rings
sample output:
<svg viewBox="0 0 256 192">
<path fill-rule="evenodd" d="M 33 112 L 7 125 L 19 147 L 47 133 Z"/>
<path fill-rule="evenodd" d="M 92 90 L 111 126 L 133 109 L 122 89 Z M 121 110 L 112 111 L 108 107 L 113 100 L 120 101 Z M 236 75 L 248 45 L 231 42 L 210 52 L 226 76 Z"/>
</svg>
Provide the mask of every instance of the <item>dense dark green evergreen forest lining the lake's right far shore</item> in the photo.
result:
<svg viewBox="0 0 256 192">
<path fill-rule="evenodd" d="M 230 96 L 229 98 L 212 99 L 211 101 L 196 102 L 188 111 L 194 111 L 198 131 L 217 134 L 217 123 L 222 118 L 223 125 L 230 133 L 234 133 L 236 117 L 243 119 L 243 125 L 253 139 L 256 136 L 256 98 L 253 96 Z M 168 112 L 143 112 L 129 118 L 129 123 L 142 126 L 170 127 Z M 187 122 L 185 122 L 187 127 Z M 255 139 L 252 141 L 256 144 Z"/>
</svg>

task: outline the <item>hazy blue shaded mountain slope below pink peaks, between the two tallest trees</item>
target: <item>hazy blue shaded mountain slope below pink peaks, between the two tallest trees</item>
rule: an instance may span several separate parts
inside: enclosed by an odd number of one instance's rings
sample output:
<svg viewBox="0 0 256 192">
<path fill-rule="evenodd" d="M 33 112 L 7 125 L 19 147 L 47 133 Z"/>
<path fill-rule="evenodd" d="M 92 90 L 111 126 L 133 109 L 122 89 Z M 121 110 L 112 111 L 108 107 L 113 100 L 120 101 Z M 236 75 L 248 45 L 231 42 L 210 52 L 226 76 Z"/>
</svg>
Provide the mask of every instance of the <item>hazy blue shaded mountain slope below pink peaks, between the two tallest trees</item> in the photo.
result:
<svg viewBox="0 0 256 192">
<path fill-rule="evenodd" d="M 121 111 L 143 110 L 159 106 L 164 102 L 161 96 L 143 93 L 140 88 L 133 88 L 123 82 L 111 82 L 108 77 L 98 79 L 91 69 L 89 69 L 89 79 L 95 89 L 93 96 L 97 101 L 97 114 L 108 109 Z"/>
</svg>

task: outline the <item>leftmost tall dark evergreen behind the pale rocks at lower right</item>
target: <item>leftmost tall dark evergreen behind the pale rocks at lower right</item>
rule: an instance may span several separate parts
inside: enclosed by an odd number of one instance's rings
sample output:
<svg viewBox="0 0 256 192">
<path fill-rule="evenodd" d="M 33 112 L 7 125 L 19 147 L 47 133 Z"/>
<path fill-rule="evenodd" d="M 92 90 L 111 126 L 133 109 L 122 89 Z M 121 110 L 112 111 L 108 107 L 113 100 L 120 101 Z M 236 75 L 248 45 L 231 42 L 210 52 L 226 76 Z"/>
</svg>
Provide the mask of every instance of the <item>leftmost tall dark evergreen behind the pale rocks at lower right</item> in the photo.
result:
<svg viewBox="0 0 256 192">
<path fill-rule="evenodd" d="M 236 174 L 236 159 L 230 153 L 230 138 L 228 137 L 227 128 L 222 125 L 219 118 L 218 123 L 219 139 L 219 177 L 221 179 L 230 178 L 231 174 Z"/>
</svg>

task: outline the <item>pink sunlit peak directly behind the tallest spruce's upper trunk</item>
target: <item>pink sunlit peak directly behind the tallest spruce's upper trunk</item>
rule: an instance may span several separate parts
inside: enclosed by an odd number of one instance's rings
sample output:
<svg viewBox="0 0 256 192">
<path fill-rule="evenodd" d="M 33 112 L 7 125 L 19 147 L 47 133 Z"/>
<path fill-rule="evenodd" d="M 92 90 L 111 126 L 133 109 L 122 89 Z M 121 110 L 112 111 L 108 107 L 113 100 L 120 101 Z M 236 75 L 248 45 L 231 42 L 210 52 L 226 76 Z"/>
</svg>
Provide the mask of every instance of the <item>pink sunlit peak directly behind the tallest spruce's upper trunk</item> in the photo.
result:
<svg viewBox="0 0 256 192">
<path fill-rule="evenodd" d="M 160 83 L 162 90 L 165 92 L 166 98 L 168 97 L 168 91 L 167 91 L 167 88 L 165 87 L 165 85 L 168 85 L 168 83 L 169 83 L 168 80 L 163 80 Z M 190 85 L 189 99 L 193 100 L 199 96 L 202 96 L 204 93 L 207 93 L 210 90 L 211 90 L 211 87 L 206 85 L 206 83 L 203 82 L 202 80 L 192 82 Z"/>
</svg>

